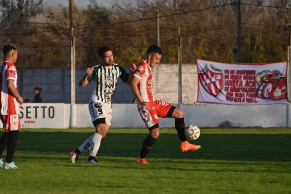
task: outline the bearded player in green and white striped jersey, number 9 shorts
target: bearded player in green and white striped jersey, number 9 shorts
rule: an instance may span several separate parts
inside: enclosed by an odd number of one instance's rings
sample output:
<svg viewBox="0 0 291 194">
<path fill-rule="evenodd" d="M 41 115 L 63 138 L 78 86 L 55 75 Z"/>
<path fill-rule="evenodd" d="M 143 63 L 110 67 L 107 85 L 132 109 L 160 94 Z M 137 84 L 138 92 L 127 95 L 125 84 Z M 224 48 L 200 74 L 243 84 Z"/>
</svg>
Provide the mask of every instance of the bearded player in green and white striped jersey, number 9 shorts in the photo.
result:
<svg viewBox="0 0 291 194">
<path fill-rule="evenodd" d="M 79 83 L 79 87 L 84 87 L 92 80 L 96 82 L 96 87 L 93 89 L 92 96 L 89 99 L 89 111 L 92 123 L 96 128 L 96 133 L 87 138 L 78 149 L 69 153 L 72 163 L 75 163 L 80 153 L 84 153 L 89 148 L 90 151 L 87 163 L 99 163 L 95 157 L 99 150 L 101 139 L 106 136 L 111 125 L 111 102 L 117 80 L 120 77 L 123 82 L 129 85 L 132 73 L 136 69 L 136 65 L 132 64 L 130 67 L 130 74 L 128 74 L 122 66 L 113 63 L 113 53 L 112 49 L 109 47 L 101 47 L 98 50 L 98 55 L 102 63 L 88 68 L 86 75 Z"/>
</svg>

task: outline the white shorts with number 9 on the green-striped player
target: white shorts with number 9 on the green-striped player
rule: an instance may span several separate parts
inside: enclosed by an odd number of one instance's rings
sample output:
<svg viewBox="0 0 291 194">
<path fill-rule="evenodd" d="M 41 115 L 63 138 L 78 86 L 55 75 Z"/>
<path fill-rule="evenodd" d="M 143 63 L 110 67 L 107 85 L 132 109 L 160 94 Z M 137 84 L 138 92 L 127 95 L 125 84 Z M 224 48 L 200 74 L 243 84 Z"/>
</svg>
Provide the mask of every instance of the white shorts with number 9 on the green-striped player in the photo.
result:
<svg viewBox="0 0 291 194">
<path fill-rule="evenodd" d="M 111 104 L 96 100 L 94 98 L 89 99 L 89 112 L 93 121 L 101 118 L 105 118 L 105 123 L 111 126 L 112 119 L 112 106 Z"/>
</svg>

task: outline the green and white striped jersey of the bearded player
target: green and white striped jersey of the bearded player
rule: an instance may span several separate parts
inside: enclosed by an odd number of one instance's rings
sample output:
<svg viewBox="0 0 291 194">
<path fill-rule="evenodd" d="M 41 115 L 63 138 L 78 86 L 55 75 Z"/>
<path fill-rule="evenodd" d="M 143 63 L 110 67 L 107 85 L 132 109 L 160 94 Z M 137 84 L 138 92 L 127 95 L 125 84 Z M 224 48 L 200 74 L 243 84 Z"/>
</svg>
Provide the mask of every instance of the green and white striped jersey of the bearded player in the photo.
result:
<svg viewBox="0 0 291 194">
<path fill-rule="evenodd" d="M 111 104 L 118 78 L 120 77 L 123 82 L 126 82 L 129 74 L 122 66 L 116 63 L 113 63 L 111 67 L 104 67 L 101 63 L 92 68 L 94 70 L 87 78 L 89 82 L 92 80 L 96 82 L 92 97 Z"/>
</svg>

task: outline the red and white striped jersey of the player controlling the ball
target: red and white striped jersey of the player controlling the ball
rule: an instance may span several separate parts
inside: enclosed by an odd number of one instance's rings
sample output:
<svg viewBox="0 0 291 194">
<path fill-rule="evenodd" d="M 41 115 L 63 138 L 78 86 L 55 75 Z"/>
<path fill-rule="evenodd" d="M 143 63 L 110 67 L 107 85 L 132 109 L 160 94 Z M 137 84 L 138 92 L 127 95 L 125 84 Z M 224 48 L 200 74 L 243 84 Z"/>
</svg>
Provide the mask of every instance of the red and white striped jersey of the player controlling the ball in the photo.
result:
<svg viewBox="0 0 291 194">
<path fill-rule="evenodd" d="M 151 68 L 147 66 L 145 61 L 141 61 L 137 64 L 137 68 L 133 73 L 134 76 L 140 79 L 140 83 L 137 85 L 140 95 L 144 102 L 155 101 L 152 82 Z"/>
</svg>

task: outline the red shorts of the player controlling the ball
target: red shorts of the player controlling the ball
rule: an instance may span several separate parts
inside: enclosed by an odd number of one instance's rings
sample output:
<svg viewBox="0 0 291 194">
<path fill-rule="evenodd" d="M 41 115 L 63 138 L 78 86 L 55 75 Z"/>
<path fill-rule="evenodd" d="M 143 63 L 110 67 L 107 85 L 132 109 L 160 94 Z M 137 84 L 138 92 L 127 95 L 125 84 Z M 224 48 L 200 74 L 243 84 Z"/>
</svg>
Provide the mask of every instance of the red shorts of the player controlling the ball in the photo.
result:
<svg viewBox="0 0 291 194">
<path fill-rule="evenodd" d="M 146 124 L 147 128 L 159 123 L 159 118 L 166 118 L 167 113 L 173 107 L 172 104 L 164 102 L 162 100 L 150 101 L 149 109 L 147 107 L 137 103 L 137 109 L 140 112 L 142 120 Z"/>
</svg>

